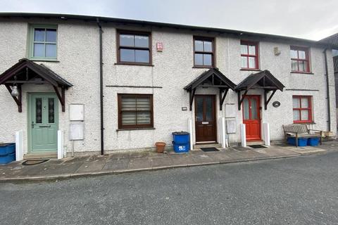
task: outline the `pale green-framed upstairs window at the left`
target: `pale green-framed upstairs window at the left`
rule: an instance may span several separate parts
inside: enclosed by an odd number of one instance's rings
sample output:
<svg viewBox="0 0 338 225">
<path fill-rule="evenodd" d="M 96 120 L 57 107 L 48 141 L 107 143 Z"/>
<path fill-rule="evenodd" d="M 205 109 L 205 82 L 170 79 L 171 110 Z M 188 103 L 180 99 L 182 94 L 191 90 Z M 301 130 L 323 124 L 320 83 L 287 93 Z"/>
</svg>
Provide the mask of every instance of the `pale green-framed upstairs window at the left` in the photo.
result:
<svg viewBox="0 0 338 225">
<path fill-rule="evenodd" d="M 56 25 L 32 25 L 30 27 L 29 58 L 32 60 L 56 60 Z"/>
</svg>

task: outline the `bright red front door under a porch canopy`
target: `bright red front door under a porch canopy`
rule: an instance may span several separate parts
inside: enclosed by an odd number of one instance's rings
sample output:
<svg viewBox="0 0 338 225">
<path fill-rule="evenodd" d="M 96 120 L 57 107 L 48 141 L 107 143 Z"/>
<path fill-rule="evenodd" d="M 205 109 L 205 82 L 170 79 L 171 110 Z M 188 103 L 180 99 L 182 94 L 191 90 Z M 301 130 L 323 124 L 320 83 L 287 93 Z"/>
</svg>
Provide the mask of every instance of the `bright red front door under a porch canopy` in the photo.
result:
<svg viewBox="0 0 338 225">
<path fill-rule="evenodd" d="M 243 123 L 246 127 L 246 141 L 261 140 L 261 96 L 245 96 L 243 101 Z"/>
</svg>

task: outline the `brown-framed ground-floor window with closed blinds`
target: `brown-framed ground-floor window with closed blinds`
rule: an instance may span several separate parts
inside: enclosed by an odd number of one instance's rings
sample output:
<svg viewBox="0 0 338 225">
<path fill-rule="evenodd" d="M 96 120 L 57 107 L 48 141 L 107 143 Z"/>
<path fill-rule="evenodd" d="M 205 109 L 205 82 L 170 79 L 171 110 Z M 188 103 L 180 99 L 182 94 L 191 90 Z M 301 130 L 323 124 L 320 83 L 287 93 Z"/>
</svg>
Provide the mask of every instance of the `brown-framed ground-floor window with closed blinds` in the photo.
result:
<svg viewBox="0 0 338 225">
<path fill-rule="evenodd" d="M 153 96 L 118 94 L 118 128 L 153 127 Z"/>
</svg>

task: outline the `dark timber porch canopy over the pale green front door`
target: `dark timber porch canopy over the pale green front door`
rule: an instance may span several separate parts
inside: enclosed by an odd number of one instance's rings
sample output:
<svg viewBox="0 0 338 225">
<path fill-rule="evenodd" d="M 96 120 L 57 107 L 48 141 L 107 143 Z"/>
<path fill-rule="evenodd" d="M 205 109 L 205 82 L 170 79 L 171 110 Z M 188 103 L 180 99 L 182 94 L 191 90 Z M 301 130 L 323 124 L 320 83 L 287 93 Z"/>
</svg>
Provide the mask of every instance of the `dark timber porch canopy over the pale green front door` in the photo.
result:
<svg viewBox="0 0 338 225">
<path fill-rule="evenodd" d="M 18 63 L 3 72 L 0 75 L 0 85 L 1 84 L 6 86 L 10 94 L 13 91 L 13 87 L 17 86 L 19 92 L 18 97 L 12 97 L 18 105 L 19 113 L 23 112 L 21 94 L 21 86 L 23 84 L 51 84 L 62 105 L 63 112 L 65 112 L 65 89 L 73 86 L 70 82 L 67 82 L 55 72 L 46 68 L 46 66 L 34 63 L 27 58 L 20 59 Z"/>
</svg>

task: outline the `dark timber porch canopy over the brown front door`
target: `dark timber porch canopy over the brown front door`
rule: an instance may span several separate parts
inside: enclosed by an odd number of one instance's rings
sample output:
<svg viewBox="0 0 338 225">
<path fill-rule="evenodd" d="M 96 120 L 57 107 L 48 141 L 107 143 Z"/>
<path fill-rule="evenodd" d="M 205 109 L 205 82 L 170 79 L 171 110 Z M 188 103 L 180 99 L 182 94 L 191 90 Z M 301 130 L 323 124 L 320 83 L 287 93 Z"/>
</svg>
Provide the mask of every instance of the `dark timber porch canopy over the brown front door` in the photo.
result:
<svg viewBox="0 0 338 225">
<path fill-rule="evenodd" d="M 196 88 L 208 88 L 215 87 L 220 89 L 220 110 L 222 110 L 222 105 L 225 100 L 225 96 L 227 96 L 227 91 L 236 87 L 230 79 L 225 77 L 218 68 L 211 68 L 203 72 L 199 77 L 196 77 L 192 82 L 190 82 L 187 86 L 184 86 L 184 90 L 189 92 L 189 109 L 192 110 L 192 103 L 194 102 L 194 96 Z M 224 92 L 224 94 L 223 94 Z"/>
</svg>

